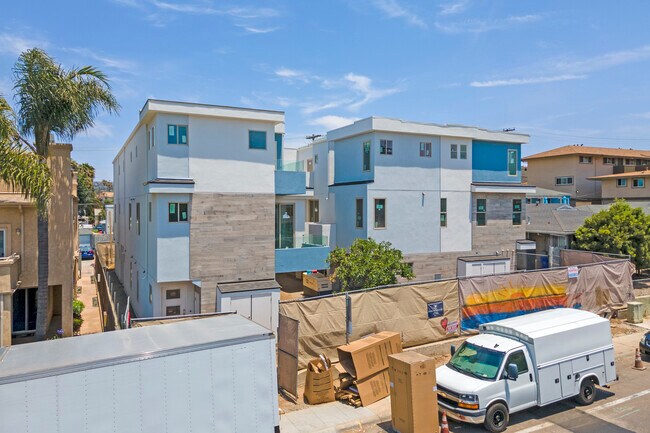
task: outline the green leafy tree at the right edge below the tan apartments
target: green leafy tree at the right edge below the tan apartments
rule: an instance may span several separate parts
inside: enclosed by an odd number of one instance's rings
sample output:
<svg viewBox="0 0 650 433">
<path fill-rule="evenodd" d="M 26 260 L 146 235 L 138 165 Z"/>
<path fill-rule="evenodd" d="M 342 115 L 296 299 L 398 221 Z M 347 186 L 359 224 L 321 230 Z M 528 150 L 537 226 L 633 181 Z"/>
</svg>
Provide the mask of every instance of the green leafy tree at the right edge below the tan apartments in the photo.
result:
<svg viewBox="0 0 650 433">
<path fill-rule="evenodd" d="M 617 200 L 576 230 L 574 248 L 629 255 L 637 272 L 650 267 L 650 217 Z"/>
</svg>

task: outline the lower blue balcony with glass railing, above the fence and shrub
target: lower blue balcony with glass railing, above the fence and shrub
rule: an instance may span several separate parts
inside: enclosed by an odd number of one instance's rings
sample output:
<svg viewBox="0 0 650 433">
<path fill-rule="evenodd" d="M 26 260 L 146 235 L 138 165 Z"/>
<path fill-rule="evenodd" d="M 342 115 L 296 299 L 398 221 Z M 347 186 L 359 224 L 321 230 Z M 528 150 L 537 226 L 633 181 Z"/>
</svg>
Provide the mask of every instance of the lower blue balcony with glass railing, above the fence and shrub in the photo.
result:
<svg viewBox="0 0 650 433">
<path fill-rule="evenodd" d="M 276 239 L 275 272 L 302 272 L 327 269 L 329 239 L 323 235 L 297 235 Z"/>
</svg>

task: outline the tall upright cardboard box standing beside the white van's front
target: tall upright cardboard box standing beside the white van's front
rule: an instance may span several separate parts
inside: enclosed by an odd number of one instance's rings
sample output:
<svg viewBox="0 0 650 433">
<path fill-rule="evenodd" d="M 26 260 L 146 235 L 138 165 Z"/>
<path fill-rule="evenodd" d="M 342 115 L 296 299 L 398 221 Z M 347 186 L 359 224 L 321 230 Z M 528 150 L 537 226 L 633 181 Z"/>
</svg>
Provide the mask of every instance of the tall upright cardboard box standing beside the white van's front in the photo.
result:
<svg viewBox="0 0 650 433">
<path fill-rule="evenodd" d="M 436 363 L 417 352 L 389 357 L 390 409 L 399 433 L 438 433 Z"/>
</svg>

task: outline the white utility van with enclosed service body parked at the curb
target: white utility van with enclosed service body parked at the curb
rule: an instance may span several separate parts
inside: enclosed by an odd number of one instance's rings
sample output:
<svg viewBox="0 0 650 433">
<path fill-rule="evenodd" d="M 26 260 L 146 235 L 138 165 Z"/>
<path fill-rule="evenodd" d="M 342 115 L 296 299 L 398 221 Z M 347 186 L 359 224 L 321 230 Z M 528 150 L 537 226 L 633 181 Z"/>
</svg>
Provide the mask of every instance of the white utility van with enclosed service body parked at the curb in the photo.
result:
<svg viewBox="0 0 650 433">
<path fill-rule="evenodd" d="M 609 320 L 558 308 L 479 326 L 438 367 L 438 406 L 455 420 L 506 429 L 510 414 L 575 397 L 617 379 Z"/>
</svg>

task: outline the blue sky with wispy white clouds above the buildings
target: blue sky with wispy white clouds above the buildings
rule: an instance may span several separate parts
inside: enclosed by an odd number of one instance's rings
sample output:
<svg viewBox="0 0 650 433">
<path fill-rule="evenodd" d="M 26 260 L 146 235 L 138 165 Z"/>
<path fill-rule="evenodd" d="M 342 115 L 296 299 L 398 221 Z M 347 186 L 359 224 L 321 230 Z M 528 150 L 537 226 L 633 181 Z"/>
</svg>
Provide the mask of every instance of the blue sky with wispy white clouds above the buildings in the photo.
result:
<svg viewBox="0 0 650 433">
<path fill-rule="evenodd" d="M 147 98 L 279 109 L 287 143 L 370 115 L 650 149 L 650 2 L 11 1 L 0 93 L 19 53 L 91 64 L 122 105 L 73 142 L 112 177 Z"/>
</svg>

